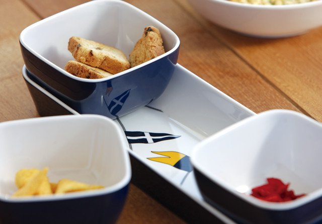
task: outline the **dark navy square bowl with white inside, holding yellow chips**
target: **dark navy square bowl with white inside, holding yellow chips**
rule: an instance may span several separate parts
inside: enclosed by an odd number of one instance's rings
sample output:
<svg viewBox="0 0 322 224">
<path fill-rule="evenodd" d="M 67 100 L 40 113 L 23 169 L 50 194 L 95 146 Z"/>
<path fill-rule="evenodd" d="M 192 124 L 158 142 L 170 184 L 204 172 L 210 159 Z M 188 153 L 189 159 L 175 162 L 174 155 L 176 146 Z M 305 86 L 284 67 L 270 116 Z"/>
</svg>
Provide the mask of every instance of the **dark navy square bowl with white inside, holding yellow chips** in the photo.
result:
<svg viewBox="0 0 322 224">
<path fill-rule="evenodd" d="M 128 144 L 111 119 L 56 116 L 0 124 L 1 223 L 114 223 L 128 192 Z M 50 182 L 68 178 L 103 189 L 12 197 L 20 169 L 48 167 Z"/>
</svg>

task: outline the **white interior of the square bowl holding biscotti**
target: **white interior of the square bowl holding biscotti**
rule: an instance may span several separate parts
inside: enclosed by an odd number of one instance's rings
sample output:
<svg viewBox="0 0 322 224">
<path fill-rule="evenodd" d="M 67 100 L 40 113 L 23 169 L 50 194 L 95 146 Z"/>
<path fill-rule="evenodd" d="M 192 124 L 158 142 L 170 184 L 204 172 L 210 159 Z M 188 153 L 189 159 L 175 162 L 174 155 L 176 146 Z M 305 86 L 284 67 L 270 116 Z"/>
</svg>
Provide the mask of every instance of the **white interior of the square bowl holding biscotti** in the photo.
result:
<svg viewBox="0 0 322 224">
<path fill-rule="evenodd" d="M 73 59 L 67 50 L 70 37 L 116 47 L 128 57 L 146 26 L 160 30 L 166 54 L 178 47 L 178 37 L 165 25 L 130 4 L 114 0 L 92 1 L 58 13 L 26 28 L 20 40 L 28 50 L 63 69 Z"/>
</svg>

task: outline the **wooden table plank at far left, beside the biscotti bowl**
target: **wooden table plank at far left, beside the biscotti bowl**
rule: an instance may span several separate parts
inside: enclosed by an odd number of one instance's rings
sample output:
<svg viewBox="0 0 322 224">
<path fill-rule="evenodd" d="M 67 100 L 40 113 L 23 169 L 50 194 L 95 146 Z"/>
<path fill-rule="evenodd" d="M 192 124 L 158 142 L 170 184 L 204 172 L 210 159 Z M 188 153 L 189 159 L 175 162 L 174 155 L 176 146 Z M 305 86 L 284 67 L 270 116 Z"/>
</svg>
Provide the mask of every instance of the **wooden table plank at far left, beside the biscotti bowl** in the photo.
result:
<svg viewBox="0 0 322 224">
<path fill-rule="evenodd" d="M 18 0 L 0 0 L 0 121 L 37 117 L 37 111 L 22 78 L 24 64 L 19 35 L 38 18 Z"/>
</svg>

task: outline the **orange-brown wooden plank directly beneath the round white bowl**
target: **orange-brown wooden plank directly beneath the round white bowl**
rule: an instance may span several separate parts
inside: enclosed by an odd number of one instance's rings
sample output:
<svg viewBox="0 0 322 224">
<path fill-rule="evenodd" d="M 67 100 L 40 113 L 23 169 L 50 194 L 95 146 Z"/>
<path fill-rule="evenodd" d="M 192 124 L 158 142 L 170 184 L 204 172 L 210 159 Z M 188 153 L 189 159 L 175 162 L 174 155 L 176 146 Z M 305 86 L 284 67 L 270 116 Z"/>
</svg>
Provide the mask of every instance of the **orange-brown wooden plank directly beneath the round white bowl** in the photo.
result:
<svg viewBox="0 0 322 224">
<path fill-rule="evenodd" d="M 208 22 L 187 0 L 176 1 L 203 29 L 251 64 L 303 113 L 322 121 L 322 27 L 291 38 L 252 38 Z"/>
</svg>

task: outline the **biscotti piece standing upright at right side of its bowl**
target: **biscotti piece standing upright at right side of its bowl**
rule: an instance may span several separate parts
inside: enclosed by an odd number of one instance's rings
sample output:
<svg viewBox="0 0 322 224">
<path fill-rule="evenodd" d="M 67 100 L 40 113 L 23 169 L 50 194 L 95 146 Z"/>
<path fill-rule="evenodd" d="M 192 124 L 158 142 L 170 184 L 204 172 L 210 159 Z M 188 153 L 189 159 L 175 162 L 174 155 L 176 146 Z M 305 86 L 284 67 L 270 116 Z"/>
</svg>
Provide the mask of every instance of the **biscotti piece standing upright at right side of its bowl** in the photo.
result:
<svg viewBox="0 0 322 224">
<path fill-rule="evenodd" d="M 164 53 L 165 48 L 160 31 L 153 26 L 148 26 L 144 28 L 142 37 L 130 53 L 129 61 L 131 67 L 134 67 Z"/>
</svg>

